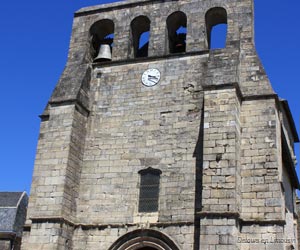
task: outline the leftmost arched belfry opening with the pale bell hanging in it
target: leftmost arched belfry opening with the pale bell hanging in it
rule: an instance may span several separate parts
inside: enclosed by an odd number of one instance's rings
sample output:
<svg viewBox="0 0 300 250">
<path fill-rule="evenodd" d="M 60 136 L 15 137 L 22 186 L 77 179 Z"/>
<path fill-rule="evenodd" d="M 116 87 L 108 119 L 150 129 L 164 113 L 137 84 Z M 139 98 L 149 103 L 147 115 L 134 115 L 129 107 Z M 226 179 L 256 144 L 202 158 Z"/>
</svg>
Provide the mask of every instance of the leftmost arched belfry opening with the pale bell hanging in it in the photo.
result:
<svg viewBox="0 0 300 250">
<path fill-rule="evenodd" d="M 90 36 L 91 56 L 94 61 L 111 60 L 114 42 L 114 22 L 109 19 L 97 21 L 90 29 Z M 100 50 L 102 51 L 101 55 L 99 54 Z"/>
</svg>

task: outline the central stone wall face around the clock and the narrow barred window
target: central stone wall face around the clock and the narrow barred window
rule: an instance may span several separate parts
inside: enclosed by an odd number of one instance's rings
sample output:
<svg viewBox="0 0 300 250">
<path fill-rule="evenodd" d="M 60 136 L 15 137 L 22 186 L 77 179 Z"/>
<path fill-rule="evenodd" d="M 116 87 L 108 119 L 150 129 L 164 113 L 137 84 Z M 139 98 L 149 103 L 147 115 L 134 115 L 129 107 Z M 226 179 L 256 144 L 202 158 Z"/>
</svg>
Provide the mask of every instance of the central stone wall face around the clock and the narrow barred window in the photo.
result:
<svg viewBox="0 0 300 250">
<path fill-rule="evenodd" d="M 138 213 L 138 171 L 148 167 L 162 171 L 154 222 L 193 221 L 194 152 L 201 140 L 198 79 L 203 77 L 201 62 L 206 58 L 95 70 L 94 76 L 100 77 L 91 81 L 92 109 L 77 213 L 81 222 L 140 221 L 145 215 Z M 151 67 L 161 70 L 163 81 L 149 88 L 142 85 L 141 73 Z"/>
</svg>

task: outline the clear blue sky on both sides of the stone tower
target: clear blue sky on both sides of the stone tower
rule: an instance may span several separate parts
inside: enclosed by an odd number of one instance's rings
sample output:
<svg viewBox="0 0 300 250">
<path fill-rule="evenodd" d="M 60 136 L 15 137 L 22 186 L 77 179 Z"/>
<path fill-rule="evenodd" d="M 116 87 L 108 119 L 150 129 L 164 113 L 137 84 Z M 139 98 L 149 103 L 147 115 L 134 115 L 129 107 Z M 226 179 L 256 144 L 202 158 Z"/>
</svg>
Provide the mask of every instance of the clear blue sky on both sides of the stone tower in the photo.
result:
<svg viewBox="0 0 300 250">
<path fill-rule="evenodd" d="M 30 191 L 40 120 L 67 58 L 73 13 L 101 0 L 3 1 L 0 14 L 0 191 Z M 255 1 L 256 48 L 300 126 L 299 0 Z M 296 145 L 300 159 L 300 145 Z M 300 168 L 300 167 L 299 167 Z M 299 171 L 298 171 L 299 172 Z"/>
</svg>

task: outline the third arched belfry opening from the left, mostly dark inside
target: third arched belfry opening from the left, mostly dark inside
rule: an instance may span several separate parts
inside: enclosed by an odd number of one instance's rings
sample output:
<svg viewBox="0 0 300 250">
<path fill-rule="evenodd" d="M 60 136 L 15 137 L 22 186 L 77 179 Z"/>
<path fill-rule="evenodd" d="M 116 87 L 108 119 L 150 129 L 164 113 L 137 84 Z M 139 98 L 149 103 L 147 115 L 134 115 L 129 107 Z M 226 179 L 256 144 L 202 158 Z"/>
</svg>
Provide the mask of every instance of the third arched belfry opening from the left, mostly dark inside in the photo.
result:
<svg viewBox="0 0 300 250">
<path fill-rule="evenodd" d="M 187 17 L 181 12 L 172 13 L 167 18 L 168 42 L 170 53 L 180 53 L 186 50 Z"/>
</svg>

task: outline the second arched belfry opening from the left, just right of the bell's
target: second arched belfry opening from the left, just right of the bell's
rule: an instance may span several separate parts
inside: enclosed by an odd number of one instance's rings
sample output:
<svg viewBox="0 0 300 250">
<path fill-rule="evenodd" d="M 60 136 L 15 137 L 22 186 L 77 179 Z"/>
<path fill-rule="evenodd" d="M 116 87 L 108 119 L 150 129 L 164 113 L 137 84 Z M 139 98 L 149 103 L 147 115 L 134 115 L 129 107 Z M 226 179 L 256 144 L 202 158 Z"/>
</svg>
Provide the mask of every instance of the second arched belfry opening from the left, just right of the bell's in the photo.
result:
<svg viewBox="0 0 300 250">
<path fill-rule="evenodd" d="M 131 22 L 134 57 L 147 57 L 150 37 L 150 20 L 138 16 Z"/>
</svg>

